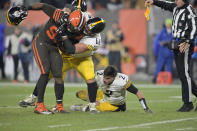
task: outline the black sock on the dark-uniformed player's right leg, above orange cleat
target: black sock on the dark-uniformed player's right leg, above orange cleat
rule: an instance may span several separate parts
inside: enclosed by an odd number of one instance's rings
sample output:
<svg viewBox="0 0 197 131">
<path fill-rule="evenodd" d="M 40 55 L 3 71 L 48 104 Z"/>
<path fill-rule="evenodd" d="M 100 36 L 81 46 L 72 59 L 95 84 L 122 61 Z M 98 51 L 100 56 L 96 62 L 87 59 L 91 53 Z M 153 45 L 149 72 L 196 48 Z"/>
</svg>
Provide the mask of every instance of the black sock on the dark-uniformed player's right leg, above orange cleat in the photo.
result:
<svg viewBox="0 0 197 131">
<path fill-rule="evenodd" d="M 55 83 L 55 96 L 56 96 L 57 104 L 62 104 L 63 95 L 64 95 L 64 83 L 62 84 Z"/>
</svg>

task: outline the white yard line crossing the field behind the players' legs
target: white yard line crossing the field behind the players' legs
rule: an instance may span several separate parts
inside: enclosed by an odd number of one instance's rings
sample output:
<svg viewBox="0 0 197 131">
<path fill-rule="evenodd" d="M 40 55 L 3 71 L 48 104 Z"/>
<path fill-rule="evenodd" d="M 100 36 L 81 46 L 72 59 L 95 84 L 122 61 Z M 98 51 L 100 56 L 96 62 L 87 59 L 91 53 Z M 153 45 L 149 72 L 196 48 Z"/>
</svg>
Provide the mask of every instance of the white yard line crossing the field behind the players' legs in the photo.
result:
<svg viewBox="0 0 197 131">
<path fill-rule="evenodd" d="M 86 87 L 86 83 L 64 83 L 65 87 Z M 11 82 L 1 82 L 0 83 L 0 88 L 6 86 L 11 86 L 11 87 L 35 87 L 36 83 L 11 83 Z M 54 83 L 51 82 L 47 86 L 53 87 Z M 155 84 L 135 84 L 136 87 L 138 88 L 180 88 L 180 85 L 155 85 Z"/>
</svg>

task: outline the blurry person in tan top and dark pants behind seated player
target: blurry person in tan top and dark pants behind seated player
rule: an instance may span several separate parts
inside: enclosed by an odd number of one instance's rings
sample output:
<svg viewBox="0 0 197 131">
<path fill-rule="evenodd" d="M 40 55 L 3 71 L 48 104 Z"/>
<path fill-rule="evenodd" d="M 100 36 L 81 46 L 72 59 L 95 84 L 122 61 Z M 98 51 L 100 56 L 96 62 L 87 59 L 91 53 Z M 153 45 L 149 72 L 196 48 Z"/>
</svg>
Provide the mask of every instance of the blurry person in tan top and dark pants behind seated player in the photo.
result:
<svg viewBox="0 0 197 131">
<path fill-rule="evenodd" d="M 109 64 L 116 66 L 119 72 L 121 72 L 121 49 L 123 49 L 123 39 L 124 35 L 119 24 L 114 22 L 112 24 L 112 29 L 107 32 L 106 48 L 109 50 Z"/>
</svg>

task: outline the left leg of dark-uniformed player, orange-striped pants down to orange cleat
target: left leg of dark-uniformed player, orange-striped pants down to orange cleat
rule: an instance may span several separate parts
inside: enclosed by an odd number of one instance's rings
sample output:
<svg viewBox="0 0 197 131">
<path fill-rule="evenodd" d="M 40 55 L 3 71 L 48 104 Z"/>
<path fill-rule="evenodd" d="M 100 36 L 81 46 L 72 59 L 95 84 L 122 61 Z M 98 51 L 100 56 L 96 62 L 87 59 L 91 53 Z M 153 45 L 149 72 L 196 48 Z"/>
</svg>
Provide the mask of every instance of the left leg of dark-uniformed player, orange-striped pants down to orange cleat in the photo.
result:
<svg viewBox="0 0 197 131">
<path fill-rule="evenodd" d="M 38 82 L 36 84 L 37 86 L 37 95 L 38 100 L 36 103 L 36 107 L 34 109 L 35 113 L 38 114 L 52 114 L 51 111 L 49 111 L 44 106 L 44 93 L 45 88 L 48 82 L 49 72 L 50 72 L 50 62 L 48 59 L 48 49 L 47 44 L 43 43 L 39 38 L 37 37 L 33 41 L 33 54 L 34 58 L 39 66 L 41 75 L 38 79 Z"/>
</svg>

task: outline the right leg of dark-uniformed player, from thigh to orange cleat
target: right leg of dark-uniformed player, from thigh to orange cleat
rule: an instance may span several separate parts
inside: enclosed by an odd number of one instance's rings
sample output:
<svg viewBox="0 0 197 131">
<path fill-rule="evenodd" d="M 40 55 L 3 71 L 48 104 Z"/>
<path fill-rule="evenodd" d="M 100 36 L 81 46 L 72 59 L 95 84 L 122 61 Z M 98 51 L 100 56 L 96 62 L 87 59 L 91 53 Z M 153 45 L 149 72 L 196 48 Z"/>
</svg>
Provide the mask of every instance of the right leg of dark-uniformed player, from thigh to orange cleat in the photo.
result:
<svg viewBox="0 0 197 131">
<path fill-rule="evenodd" d="M 51 48 L 50 53 L 51 59 L 51 71 L 55 79 L 55 96 L 56 96 L 56 107 L 54 111 L 59 113 L 67 113 L 63 107 L 63 95 L 64 95 L 64 81 L 62 79 L 62 56 L 56 48 Z"/>
</svg>

